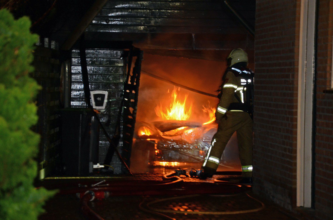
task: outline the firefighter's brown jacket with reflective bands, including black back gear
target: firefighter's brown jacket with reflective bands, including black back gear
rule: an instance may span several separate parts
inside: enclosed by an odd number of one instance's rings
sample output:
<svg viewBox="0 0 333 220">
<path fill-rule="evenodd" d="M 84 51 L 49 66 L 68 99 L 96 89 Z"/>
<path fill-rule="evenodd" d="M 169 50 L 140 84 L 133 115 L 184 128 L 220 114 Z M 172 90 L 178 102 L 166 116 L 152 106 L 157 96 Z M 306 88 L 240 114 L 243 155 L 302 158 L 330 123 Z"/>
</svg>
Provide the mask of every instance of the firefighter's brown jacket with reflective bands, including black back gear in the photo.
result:
<svg viewBox="0 0 333 220">
<path fill-rule="evenodd" d="M 252 110 L 253 71 L 243 68 L 228 68 L 223 76 L 221 98 L 217 106 L 215 117 L 221 120 L 227 111 Z"/>
</svg>

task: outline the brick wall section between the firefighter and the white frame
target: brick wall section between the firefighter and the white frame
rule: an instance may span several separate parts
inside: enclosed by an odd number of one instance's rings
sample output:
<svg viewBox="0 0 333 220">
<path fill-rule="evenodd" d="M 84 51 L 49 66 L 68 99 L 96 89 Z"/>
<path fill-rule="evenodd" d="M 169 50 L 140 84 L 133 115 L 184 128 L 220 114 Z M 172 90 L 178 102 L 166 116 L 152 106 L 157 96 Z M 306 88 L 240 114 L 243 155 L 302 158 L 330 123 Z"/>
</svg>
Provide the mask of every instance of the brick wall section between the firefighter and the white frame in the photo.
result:
<svg viewBox="0 0 333 220">
<path fill-rule="evenodd" d="M 253 191 L 296 204 L 299 2 L 257 0 Z"/>
</svg>

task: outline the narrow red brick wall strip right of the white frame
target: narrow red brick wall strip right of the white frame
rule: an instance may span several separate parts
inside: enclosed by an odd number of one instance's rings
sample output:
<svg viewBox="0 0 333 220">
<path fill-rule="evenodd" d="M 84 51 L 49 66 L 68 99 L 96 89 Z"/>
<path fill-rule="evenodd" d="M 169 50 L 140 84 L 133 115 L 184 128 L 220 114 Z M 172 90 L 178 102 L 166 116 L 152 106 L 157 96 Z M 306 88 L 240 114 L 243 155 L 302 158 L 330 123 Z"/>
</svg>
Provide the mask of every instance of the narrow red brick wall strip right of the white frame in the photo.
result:
<svg viewBox="0 0 333 220">
<path fill-rule="evenodd" d="M 323 93 L 331 86 L 333 1 L 320 0 L 318 13 L 315 210 L 333 220 L 333 94 Z"/>
</svg>

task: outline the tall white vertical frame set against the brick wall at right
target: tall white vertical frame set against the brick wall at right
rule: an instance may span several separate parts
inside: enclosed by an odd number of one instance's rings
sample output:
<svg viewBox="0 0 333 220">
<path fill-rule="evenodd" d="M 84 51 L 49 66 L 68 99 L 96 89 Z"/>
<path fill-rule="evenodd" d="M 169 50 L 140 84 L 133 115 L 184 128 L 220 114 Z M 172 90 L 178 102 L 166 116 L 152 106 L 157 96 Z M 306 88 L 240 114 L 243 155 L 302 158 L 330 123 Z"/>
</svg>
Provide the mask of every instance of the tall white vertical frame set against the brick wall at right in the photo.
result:
<svg viewBox="0 0 333 220">
<path fill-rule="evenodd" d="M 296 205 L 304 207 L 311 207 L 315 21 L 316 0 L 301 0 L 297 103 Z"/>
</svg>

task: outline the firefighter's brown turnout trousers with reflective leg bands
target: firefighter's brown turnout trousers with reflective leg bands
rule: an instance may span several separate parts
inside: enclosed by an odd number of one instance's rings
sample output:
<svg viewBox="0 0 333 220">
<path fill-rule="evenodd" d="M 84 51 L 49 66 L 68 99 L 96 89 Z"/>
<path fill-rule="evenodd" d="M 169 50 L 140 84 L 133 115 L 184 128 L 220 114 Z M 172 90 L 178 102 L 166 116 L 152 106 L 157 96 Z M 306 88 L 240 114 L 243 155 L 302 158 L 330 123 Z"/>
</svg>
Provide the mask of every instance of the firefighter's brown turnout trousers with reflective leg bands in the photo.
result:
<svg viewBox="0 0 333 220">
<path fill-rule="evenodd" d="M 202 164 L 204 171 L 216 171 L 231 135 L 236 132 L 242 176 L 252 176 L 253 121 L 247 112 L 227 111 L 213 136 Z"/>
</svg>

